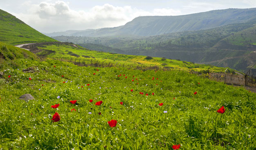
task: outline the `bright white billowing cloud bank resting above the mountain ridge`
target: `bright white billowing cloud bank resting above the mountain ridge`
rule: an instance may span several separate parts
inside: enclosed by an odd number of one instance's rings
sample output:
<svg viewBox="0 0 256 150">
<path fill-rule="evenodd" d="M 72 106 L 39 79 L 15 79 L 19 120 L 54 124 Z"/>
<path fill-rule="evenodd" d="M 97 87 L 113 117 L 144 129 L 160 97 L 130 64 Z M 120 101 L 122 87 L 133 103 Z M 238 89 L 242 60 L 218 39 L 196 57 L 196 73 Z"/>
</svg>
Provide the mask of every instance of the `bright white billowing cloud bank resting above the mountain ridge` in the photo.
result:
<svg viewBox="0 0 256 150">
<path fill-rule="evenodd" d="M 65 31 L 69 29 L 98 29 L 102 27 L 117 27 L 138 16 L 174 16 L 181 12 L 174 9 L 153 9 L 144 11 L 131 6 L 116 7 L 103 4 L 92 7 L 88 11 L 76 11 L 63 1 L 44 1 L 39 4 L 25 2 L 29 8 L 27 13 L 14 13 L 31 27 L 41 32 Z"/>
</svg>

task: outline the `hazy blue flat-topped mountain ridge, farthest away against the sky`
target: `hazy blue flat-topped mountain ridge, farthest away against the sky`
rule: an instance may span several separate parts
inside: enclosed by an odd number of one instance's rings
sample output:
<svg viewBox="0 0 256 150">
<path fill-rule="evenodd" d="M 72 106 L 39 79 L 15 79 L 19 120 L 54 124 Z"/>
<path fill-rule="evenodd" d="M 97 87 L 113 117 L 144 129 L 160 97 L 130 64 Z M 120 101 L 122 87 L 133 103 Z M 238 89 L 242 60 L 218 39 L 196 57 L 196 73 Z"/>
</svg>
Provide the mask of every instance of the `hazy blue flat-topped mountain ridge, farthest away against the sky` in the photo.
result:
<svg viewBox="0 0 256 150">
<path fill-rule="evenodd" d="M 142 16 L 126 25 L 97 30 L 65 31 L 47 36 L 155 36 L 180 31 L 211 29 L 236 23 L 256 23 L 256 8 L 223 9 L 182 16 Z"/>
</svg>

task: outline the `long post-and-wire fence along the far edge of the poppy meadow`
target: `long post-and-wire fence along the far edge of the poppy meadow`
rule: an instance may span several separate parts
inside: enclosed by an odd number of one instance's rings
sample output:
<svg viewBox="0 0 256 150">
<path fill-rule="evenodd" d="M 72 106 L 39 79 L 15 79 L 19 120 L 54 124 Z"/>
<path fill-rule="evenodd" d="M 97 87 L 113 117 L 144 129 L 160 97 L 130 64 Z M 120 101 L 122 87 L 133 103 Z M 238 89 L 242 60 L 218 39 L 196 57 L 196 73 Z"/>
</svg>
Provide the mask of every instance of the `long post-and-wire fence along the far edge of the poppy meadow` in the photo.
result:
<svg viewBox="0 0 256 150">
<path fill-rule="evenodd" d="M 96 60 L 93 58 L 47 58 L 47 57 L 41 57 L 46 59 L 55 59 L 55 60 L 61 60 L 66 62 L 74 63 L 74 65 L 79 66 L 94 66 L 94 67 L 126 67 L 128 69 L 140 69 L 140 70 L 164 70 L 164 71 L 170 71 L 173 70 L 173 68 L 165 68 L 165 67 L 159 67 L 159 66 L 147 66 L 142 64 L 135 64 L 135 63 L 118 63 L 113 61 L 106 61 L 106 60 Z M 184 69 L 180 71 L 186 71 Z M 227 84 L 234 84 L 234 85 L 249 85 L 249 86 L 256 86 L 256 76 L 248 76 L 248 75 L 236 75 L 236 74 L 221 74 L 221 73 L 211 73 L 208 70 L 195 72 L 193 70 L 189 70 L 191 74 L 200 74 L 201 76 L 210 78 L 211 80 L 224 82 Z"/>
</svg>

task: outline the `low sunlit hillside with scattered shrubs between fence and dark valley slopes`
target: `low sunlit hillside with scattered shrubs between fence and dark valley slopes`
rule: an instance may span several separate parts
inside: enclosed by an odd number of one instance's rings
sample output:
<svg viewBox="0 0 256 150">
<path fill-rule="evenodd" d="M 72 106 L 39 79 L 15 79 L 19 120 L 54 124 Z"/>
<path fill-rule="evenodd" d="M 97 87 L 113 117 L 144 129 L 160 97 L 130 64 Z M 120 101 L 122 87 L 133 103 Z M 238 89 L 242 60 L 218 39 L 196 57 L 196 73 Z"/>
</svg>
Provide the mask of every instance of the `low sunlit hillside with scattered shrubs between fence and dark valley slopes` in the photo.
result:
<svg viewBox="0 0 256 150">
<path fill-rule="evenodd" d="M 193 69 L 195 71 L 221 72 L 225 70 L 222 67 L 215 67 L 213 65 L 199 65 L 191 62 L 171 60 L 166 58 L 153 57 L 146 59 L 146 56 L 133 56 L 125 54 L 107 53 L 102 51 L 92 51 L 83 47 L 77 47 L 72 43 L 43 43 L 36 44 L 37 48 L 32 49 L 31 52 L 43 58 L 52 58 L 63 61 L 72 61 L 79 65 L 90 63 L 112 64 L 115 66 L 126 66 L 130 68 L 141 67 L 141 69 Z M 157 67 L 156 67 L 157 66 Z M 234 69 L 229 69 L 228 72 L 233 72 Z"/>
</svg>

